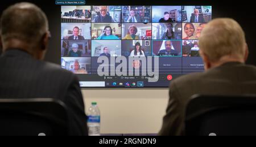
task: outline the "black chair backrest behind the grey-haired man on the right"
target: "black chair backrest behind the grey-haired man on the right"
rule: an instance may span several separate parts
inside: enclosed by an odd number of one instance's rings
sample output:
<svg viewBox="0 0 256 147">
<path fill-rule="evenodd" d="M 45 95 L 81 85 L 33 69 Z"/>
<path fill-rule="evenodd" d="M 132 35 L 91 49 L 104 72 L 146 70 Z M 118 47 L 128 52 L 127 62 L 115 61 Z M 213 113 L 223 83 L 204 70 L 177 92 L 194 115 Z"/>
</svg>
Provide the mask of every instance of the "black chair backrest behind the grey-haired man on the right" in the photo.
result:
<svg viewBox="0 0 256 147">
<path fill-rule="evenodd" d="M 193 96 L 187 105 L 188 136 L 256 135 L 256 96 Z"/>
</svg>

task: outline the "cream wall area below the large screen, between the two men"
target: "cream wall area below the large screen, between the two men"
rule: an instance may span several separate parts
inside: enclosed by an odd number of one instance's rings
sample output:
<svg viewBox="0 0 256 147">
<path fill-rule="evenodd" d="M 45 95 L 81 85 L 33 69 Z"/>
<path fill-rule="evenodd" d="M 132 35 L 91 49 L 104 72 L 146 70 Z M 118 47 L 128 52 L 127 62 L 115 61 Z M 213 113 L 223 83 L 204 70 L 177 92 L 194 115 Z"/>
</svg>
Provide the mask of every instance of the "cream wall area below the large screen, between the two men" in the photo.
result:
<svg viewBox="0 0 256 147">
<path fill-rule="evenodd" d="M 168 89 L 83 89 L 86 111 L 97 102 L 101 133 L 158 133 Z"/>
</svg>

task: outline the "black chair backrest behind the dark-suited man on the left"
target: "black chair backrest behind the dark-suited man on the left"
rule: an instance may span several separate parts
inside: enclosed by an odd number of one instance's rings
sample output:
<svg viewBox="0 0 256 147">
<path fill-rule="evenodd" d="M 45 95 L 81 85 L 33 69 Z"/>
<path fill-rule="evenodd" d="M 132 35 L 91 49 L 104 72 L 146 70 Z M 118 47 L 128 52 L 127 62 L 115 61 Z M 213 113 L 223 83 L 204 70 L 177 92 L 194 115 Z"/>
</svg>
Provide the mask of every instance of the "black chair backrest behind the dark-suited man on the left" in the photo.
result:
<svg viewBox="0 0 256 147">
<path fill-rule="evenodd" d="M 68 135 L 63 102 L 51 98 L 0 98 L 0 136 Z"/>
</svg>

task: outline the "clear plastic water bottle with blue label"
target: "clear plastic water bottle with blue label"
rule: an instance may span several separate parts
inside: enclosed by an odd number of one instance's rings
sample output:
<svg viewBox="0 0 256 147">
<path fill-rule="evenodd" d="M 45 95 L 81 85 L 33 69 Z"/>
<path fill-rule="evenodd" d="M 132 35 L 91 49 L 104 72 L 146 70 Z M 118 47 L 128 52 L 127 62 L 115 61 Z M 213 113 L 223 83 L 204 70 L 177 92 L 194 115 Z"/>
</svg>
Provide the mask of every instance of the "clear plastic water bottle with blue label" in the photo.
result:
<svg viewBox="0 0 256 147">
<path fill-rule="evenodd" d="M 92 102 L 88 111 L 89 136 L 100 136 L 100 121 L 100 109 L 98 109 L 97 102 Z"/>
</svg>

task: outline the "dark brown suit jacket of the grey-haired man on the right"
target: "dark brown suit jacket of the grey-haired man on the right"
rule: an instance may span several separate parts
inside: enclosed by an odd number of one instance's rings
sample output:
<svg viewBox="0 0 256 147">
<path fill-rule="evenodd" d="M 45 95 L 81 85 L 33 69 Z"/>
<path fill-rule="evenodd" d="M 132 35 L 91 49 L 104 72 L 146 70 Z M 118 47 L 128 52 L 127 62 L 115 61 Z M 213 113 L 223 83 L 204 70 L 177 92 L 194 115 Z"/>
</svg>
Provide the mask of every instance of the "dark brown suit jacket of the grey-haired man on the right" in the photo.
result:
<svg viewBox="0 0 256 147">
<path fill-rule="evenodd" d="M 184 135 L 185 107 L 194 94 L 256 94 L 256 67 L 226 63 L 206 72 L 181 76 L 170 85 L 170 100 L 159 135 Z"/>
</svg>

